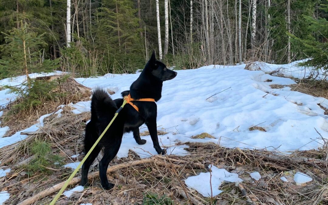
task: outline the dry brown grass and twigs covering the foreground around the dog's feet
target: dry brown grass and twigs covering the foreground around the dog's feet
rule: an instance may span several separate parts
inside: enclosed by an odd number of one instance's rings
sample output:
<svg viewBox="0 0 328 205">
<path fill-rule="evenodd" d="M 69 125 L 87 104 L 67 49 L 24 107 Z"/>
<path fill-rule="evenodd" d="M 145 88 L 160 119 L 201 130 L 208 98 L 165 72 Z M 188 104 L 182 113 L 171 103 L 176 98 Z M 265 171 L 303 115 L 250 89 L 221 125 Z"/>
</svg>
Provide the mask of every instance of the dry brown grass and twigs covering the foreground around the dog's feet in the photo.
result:
<svg viewBox="0 0 328 205">
<path fill-rule="evenodd" d="M 0 168 L 11 168 L 9 174 L 0 178 L 0 187 L 11 195 L 7 201 L 8 204 L 22 202 L 66 180 L 72 172 L 70 169 L 63 168 L 47 175 L 29 173 L 24 165 L 15 166 L 31 157 L 27 151 L 35 137 L 50 141 L 53 152 L 65 157 L 66 163 L 75 160 L 71 158 L 72 154 L 81 154 L 77 160 L 82 159 L 83 132 L 90 113 L 75 115 L 64 109 L 62 114 L 60 118 L 51 115 L 38 133 L 1 149 L 0 161 L 5 167 Z M 202 133 L 196 136 L 202 138 L 211 135 Z M 180 145 L 176 144 L 176 146 Z M 183 180 L 200 172 L 208 172 L 209 164 L 239 174 L 239 177 L 243 179 L 241 185 L 253 204 L 308 205 L 328 202 L 328 162 L 322 160 L 326 154 L 325 149 L 281 155 L 281 153 L 266 150 L 229 149 L 213 143 L 187 143 L 186 145 L 189 146 L 186 148 L 189 155 L 158 156 L 157 160 L 150 163 L 125 167 L 108 174 L 110 182 L 115 184 L 112 190 L 102 190 L 99 177 L 95 177 L 92 180 L 92 186 L 73 194 L 70 198 L 61 196 L 58 203 L 141 204 L 144 193 L 155 193 L 159 196 L 170 197 L 175 204 L 194 204 L 195 201 L 201 204 L 248 204 L 247 198 L 234 183 L 224 183 L 221 186 L 224 192 L 212 199 L 203 197 L 195 190 L 186 187 Z M 308 160 L 308 158 L 314 158 L 316 161 Z M 138 154 L 130 151 L 128 157 L 115 159 L 110 166 L 138 159 L 140 159 Z M 92 168 L 93 172 L 98 172 L 97 164 L 96 159 Z M 248 173 L 254 171 L 260 172 L 262 178 L 259 181 L 250 178 Z M 297 171 L 309 174 L 314 180 L 307 184 L 295 184 L 292 177 Z M 281 176 L 285 176 L 289 182 L 282 182 Z M 72 187 L 74 186 L 69 188 Z M 56 192 L 40 198 L 37 203 L 48 204 L 55 194 Z"/>
</svg>

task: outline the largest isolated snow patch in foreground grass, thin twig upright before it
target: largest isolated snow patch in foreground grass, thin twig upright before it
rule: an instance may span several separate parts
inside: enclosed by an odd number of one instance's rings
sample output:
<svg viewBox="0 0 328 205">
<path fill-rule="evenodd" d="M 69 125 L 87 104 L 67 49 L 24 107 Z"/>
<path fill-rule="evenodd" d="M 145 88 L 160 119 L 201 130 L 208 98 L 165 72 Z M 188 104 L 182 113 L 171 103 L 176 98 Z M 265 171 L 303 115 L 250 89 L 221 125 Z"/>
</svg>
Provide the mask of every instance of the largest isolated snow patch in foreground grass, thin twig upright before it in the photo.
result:
<svg viewBox="0 0 328 205">
<path fill-rule="evenodd" d="M 210 172 L 201 172 L 197 176 L 190 176 L 185 179 L 185 183 L 189 188 L 195 189 L 205 197 L 216 196 L 223 192 L 222 190 L 219 190 L 219 187 L 224 181 L 242 182 L 242 179 L 238 178 L 238 174 L 230 173 L 225 169 L 218 169 L 214 165 L 209 165 L 208 168 L 211 169 L 212 177 Z"/>
</svg>

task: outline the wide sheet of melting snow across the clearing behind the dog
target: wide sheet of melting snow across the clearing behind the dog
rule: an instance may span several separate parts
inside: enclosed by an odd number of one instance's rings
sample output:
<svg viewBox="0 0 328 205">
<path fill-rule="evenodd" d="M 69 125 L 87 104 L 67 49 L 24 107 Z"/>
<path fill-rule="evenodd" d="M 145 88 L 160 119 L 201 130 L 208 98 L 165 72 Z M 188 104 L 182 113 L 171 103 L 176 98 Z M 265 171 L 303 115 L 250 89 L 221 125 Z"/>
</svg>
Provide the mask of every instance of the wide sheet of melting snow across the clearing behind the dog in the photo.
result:
<svg viewBox="0 0 328 205">
<path fill-rule="evenodd" d="M 297 76 L 295 62 L 288 65 L 259 64 L 266 72 L 287 66 L 291 68 L 290 73 Z M 188 146 L 176 146 L 178 142 L 213 142 L 226 147 L 266 148 L 281 152 L 318 149 L 322 146 L 322 140 L 313 140 L 313 137 L 318 136 L 314 129 L 316 128 L 324 138 L 328 138 L 328 116 L 324 115 L 324 110 L 318 106 L 320 104 L 328 108 L 327 99 L 291 91 L 289 87 L 272 89 L 270 85 L 289 85 L 295 82 L 290 78 L 244 68 L 245 65 L 203 66 L 194 70 L 176 71 L 178 74 L 173 80 L 163 82 L 162 98 L 157 102 L 157 126 L 158 129 L 168 132 L 158 136 L 160 145 L 168 147 L 168 154 L 187 154 L 184 148 Z M 303 68 L 298 67 L 299 69 Z M 101 77 L 77 78 L 76 81 L 92 89 L 101 87 L 112 90 L 115 92 L 112 98 L 116 99 L 121 98 L 121 92 L 129 90 L 139 75 L 140 73 L 106 74 Z M 299 77 L 301 76 L 299 74 Z M 1 83 L 13 82 L 4 79 Z M 6 101 L 6 96 L 0 96 L 1 104 Z M 90 112 L 90 102 L 82 101 L 66 106 L 71 106 L 72 112 L 78 114 Z M 60 117 L 61 111 L 56 114 Z M 38 124 L 24 131 L 35 131 L 40 126 Z M 264 128 L 266 132 L 250 131 L 249 128 L 255 125 Z M 0 128 L 0 137 L 7 129 Z M 147 128 L 143 128 L 140 132 L 146 130 Z M 0 138 L 0 148 L 24 139 L 26 136 L 20 135 L 20 132 Z M 204 132 L 215 139 L 190 138 Z M 132 133 L 124 134 L 117 156 L 127 156 L 129 149 L 140 157 L 157 154 L 151 137 L 142 138 L 146 139 L 147 143 L 138 145 L 133 140 Z"/>
</svg>

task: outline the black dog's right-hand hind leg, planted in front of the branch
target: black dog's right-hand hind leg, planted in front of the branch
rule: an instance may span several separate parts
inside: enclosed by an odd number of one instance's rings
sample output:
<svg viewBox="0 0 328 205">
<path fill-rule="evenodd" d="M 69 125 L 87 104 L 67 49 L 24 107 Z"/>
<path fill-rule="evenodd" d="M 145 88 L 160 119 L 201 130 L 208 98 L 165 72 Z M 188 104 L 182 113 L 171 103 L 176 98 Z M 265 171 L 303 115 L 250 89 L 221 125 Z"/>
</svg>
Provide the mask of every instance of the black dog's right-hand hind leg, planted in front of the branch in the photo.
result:
<svg viewBox="0 0 328 205">
<path fill-rule="evenodd" d="M 118 150 L 120 149 L 122 136 L 123 133 L 121 134 L 121 136 L 117 136 L 116 140 L 112 144 L 105 146 L 104 156 L 99 162 L 99 176 L 100 176 L 101 186 L 107 190 L 112 189 L 114 187 L 114 184 L 108 182 L 107 168 L 109 163 L 113 160 Z"/>
</svg>

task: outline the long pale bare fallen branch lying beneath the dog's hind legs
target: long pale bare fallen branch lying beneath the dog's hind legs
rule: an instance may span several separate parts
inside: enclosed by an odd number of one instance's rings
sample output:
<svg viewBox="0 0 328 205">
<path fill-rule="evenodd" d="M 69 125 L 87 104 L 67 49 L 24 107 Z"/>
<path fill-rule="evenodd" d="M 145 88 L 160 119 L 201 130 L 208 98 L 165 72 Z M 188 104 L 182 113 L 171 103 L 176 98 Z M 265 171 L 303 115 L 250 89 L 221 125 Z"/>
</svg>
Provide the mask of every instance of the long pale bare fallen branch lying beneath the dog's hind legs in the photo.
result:
<svg viewBox="0 0 328 205">
<path fill-rule="evenodd" d="M 119 170 L 119 169 L 122 169 L 122 168 L 134 166 L 134 165 L 147 164 L 147 163 L 152 163 L 152 162 L 159 163 L 161 165 L 163 163 L 163 162 L 159 161 L 158 158 L 156 158 L 156 157 L 138 159 L 138 160 L 134 160 L 134 161 L 131 161 L 131 162 L 125 162 L 125 163 L 114 165 L 114 166 L 107 169 L 107 173 L 111 173 L 115 170 Z M 88 179 L 93 179 L 93 178 L 98 177 L 98 176 L 99 176 L 99 172 L 94 172 L 94 173 L 88 175 Z M 81 177 L 77 176 L 77 177 L 72 178 L 72 180 L 70 181 L 70 183 L 68 185 L 70 186 L 70 185 L 73 185 L 73 184 L 77 184 L 80 181 L 81 181 Z M 28 199 L 25 199 L 24 201 L 22 201 L 18 205 L 32 204 L 32 203 L 36 202 L 37 200 L 40 200 L 40 199 L 44 198 L 45 196 L 51 195 L 52 193 L 60 190 L 64 184 L 65 184 L 65 181 L 63 181 L 59 184 L 53 185 L 52 187 L 50 187 L 46 190 L 43 190 L 42 192 L 39 192 L 38 194 L 35 194 L 35 195 L 33 195 L 32 197 L 30 197 Z"/>
</svg>

